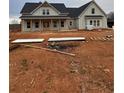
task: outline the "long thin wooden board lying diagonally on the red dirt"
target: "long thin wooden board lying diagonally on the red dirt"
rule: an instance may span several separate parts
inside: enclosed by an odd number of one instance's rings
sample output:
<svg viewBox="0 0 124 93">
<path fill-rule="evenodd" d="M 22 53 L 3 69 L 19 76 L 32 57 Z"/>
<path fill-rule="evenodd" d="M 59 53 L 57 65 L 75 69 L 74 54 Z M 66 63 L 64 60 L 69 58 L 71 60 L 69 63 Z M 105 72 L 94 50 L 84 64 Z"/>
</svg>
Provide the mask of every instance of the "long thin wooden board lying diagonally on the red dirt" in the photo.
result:
<svg viewBox="0 0 124 93">
<path fill-rule="evenodd" d="M 57 52 L 57 53 L 65 54 L 65 55 L 69 55 L 69 56 L 75 56 L 75 54 L 62 52 L 62 51 L 58 51 L 55 49 L 53 50 L 53 49 L 48 49 L 48 48 L 43 48 L 43 47 L 38 47 L 38 46 L 33 46 L 33 45 L 27 45 L 27 44 L 21 44 L 21 45 L 26 46 L 26 47 L 35 48 L 35 49 L 43 49 L 43 50 L 47 50 L 47 51 L 51 51 L 51 52 Z"/>
</svg>

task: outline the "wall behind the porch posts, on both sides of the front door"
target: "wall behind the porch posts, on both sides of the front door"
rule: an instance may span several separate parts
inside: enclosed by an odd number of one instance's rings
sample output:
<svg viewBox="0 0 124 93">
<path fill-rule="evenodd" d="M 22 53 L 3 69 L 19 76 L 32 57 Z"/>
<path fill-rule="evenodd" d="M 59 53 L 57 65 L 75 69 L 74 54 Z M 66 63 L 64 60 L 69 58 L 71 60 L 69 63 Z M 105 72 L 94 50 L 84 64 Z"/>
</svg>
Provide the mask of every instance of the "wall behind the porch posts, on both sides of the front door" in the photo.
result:
<svg viewBox="0 0 124 93">
<path fill-rule="evenodd" d="M 27 21 L 31 22 L 30 27 L 31 28 L 27 28 Z M 39 28 L 35 28 L 35 22 L 39 21 Z M 45 20 L 44 20 L 45 21 Z M 61 20 L 56 20 L 57 22 L 57 27 L 53 26 L 53 21 L 55 20 L 49 20 L 49 28 L 48 30 L 68 30 L 68 20 L 62 20 L 64 21 L 64 27 L 61 27 Z M 30 32 L 30 31 L 43 31 L 44 27 L 43 27 L 43 20 L 22 20 L 22 32 Z"/>
</svg>

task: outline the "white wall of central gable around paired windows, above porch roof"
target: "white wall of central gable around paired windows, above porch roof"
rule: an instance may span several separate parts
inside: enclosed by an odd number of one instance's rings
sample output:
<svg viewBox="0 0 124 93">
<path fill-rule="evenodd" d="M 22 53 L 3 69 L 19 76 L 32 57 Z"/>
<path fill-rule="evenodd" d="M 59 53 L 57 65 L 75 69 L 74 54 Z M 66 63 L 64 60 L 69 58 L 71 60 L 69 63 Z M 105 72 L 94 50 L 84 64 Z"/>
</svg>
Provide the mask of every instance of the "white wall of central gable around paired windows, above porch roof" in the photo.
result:
<svg viewBox="0 0 124 93">
<path fill-rule="evenodd" d="M 59 15 L 58 13 L 57 13 L 57 11 L 55 11 L 52 7 L 40 7 L 38 10 L 36 10 L 34 13 L 33 13 L 33 15 L 35 15 L 35 16 L 46 16 L 46 15 L 43 15 L 43 10 L 49 10 L 49 15 L 47 15 L 47 16 L 56 16 L 56 15 Z"/>
</svg>

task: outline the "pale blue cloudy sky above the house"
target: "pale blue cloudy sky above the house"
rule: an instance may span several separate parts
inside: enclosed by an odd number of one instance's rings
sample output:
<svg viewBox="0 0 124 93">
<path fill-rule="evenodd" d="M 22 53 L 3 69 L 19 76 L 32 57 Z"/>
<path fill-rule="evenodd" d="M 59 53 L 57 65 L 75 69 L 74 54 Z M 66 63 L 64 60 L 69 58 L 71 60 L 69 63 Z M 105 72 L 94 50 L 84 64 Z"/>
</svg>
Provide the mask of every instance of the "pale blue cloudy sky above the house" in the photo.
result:
<svg viewBox="0 0 124 93">
<path fill-rule="evenodd" d="M 26 2 L 44 2 L 45 0 L 9 0 L 9 19 L 19 20 L 20 11 Z M 80 7 L 91 0 L 46 0 L 50 3 L 64 3 L 66 7 Z M 96 3 L 106 12 L 114 11 L 114 0 L 95 0 Z"/>
</svg>

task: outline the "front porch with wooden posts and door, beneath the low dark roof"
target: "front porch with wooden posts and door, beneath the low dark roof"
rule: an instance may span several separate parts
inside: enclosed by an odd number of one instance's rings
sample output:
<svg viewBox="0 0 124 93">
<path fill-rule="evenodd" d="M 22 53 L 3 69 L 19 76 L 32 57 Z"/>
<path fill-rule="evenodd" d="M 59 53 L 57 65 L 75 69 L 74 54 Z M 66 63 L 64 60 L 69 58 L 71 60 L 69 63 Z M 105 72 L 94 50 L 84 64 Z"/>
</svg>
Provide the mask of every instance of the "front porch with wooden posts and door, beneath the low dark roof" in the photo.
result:
<svg viewBox="0 0 124 93">
<path fill-rule="evenodd" d="M 66 19 L 23 19 L 22 31 L 60 31 L 68 30 Z"/>
</svg>

